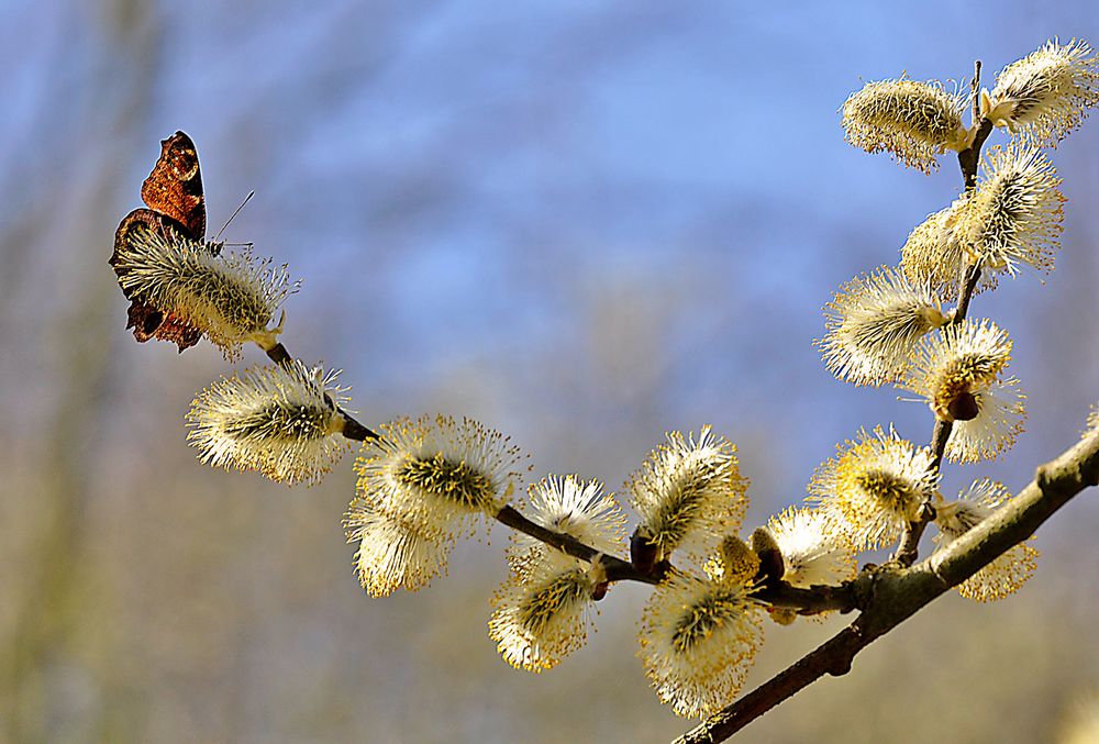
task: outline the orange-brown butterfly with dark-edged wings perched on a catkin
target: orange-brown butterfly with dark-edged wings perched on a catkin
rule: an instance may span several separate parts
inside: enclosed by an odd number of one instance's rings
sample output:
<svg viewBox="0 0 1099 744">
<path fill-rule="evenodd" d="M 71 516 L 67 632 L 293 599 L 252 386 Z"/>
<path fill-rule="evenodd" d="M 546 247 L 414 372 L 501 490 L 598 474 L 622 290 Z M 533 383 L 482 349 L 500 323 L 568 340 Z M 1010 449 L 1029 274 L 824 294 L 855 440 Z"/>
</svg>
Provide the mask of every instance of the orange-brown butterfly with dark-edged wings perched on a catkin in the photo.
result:
<svg viewBox="0 0 1099 744">
<path fill-rule="evenodd" d="M 109 263 L 119 276 L 120 286 L 127 273 L 120 265 L 120 252 L 136 231 L 158 231 L 166 238 L 206 240 L 206 200 L 199 156 L 187 134 L 176 132 L 160 142 L 160 157 L 142 184 L 141 198 L 148 209 L 135 209 L 126 214 L 114 232 L 114 253 Z M 221 248 L 218 243 L 208 246 L 215 255 Z M 180 352 L 198 343 L 201 331 L 171 312 L 156 309 L 133 288 L 127 290 L 123 286 L 122 292 L 130 300 L 126 327 L 133 329 L 134 338 L 142 343 L 149 338 L 175 342 Z"/>
</svg>

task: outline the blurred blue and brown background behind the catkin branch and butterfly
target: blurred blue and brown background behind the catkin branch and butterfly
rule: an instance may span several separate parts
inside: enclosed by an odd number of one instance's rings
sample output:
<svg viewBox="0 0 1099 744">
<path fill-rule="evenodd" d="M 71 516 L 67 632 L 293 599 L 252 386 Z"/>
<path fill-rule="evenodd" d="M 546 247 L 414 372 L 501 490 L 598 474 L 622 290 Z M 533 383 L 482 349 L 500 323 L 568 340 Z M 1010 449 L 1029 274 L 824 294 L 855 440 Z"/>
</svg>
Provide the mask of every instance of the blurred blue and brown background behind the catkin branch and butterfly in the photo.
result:
<svg viewBox="0 0 1099 744">
<path fill-rule="evenodd" d="M 107 266 L 158 141 L 202 159 L 215 229 L 287 260 L 287 342 L 343 367 L 366 423 L 468 414 L 535 475 L 612 489 L 666 430 L 712 423 L 753 485 L 747 524 L 803 496 L 834 443 L 923 406 L 836 382 L 820 306 L 957 191 L 843 142 L 862 79 L 1046 38 L 1099 41 L 1089 2 L 734 9 L 701 3 L 0 7 L 0 740 L 660 741 L 634 657 L 643 587 L 547 675 L 496 654 L 504 532 L 452 576 L 366 598 L 342 544 L 351 457 L 312 489 L 201 466 L 184 444 L 209 345 L 137 346 Z M 1090 122 L 1094 124 L 1094 122 Z M 990 144 L 997 142 L 993 134 Z M 1011 329 L 1029 425 L 980 475 L 1018 487 L 1097 397 L 1099 129 L 1052 154 L 1065 246 L 981 296 Z M 264 359 L 251 349 L 245 364 Z M 976 469 L 947 468 L 956 492 Z M 851 675 L 745 741 L 1044 741 L 1099 687 L 1099 507 L 1039 534 L 1007 602 L 940 600 Z M 1070 517 L 1069 517 L 1070 514 Z M 834 630 L 773 633 L 753 679 Z M 904 684 L 897 684 L 898 669 Z M 750 680 L 750 686 L 752 680 Z M 929 715 L 934 711 L 934 715 Z"/>
</svg>

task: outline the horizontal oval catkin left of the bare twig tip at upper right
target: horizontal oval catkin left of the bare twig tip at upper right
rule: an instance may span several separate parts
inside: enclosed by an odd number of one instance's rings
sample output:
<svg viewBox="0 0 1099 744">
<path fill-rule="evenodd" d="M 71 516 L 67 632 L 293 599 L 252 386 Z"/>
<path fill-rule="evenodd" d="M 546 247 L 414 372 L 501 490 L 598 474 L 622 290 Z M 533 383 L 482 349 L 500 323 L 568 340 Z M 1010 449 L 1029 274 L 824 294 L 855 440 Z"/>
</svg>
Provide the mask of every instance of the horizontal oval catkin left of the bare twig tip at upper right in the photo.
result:
<svg viewBox="0 0 1099 744">
<path fill-rule="evenodd" d="M 887 151 L 898 162 L 931 173 L 935 155 L 965 149 L 965 102 L 937 82 L 901 78 L 868 82 L 843 104 L 847 142 L 868 153 Z"/>
</svg>

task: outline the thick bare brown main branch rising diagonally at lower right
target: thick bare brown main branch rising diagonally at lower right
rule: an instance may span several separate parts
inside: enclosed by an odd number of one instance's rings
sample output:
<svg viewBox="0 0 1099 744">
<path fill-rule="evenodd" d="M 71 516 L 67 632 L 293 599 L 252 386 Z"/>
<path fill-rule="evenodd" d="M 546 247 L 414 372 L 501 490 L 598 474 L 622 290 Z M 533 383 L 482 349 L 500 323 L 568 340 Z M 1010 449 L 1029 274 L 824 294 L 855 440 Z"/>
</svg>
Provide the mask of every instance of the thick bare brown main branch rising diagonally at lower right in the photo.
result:
<svg viewBox="0 0 1099 744">
<path fill-rule="evenodd" d="M 824 675 L 840 676 L 852 659 L 951 587 L 1026 540 L 1085 488 L 1099 484 L 1099 429 L 1037 468 L 1020 493 L 978 526 L 911 568 L 885 566 L 855 581 L 866 593 L 862 614 L 822 646 L 676 740 L 721 742 Z M 862 603 L 862 602 L 861 602 Z"/>
</svg>

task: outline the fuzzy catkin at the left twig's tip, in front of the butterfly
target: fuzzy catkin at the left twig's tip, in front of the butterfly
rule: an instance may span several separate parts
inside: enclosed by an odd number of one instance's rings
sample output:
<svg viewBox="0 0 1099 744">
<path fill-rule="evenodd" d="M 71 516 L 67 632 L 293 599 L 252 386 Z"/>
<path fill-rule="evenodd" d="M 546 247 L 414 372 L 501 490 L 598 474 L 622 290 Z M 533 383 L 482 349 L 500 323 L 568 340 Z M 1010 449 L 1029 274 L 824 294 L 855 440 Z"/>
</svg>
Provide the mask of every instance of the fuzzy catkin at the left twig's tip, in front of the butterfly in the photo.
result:
<svg viewBox="0 0 1099 744">
<path fill-rule="evenodd" d="M 123 289 L 204 333 L 227 359 L 237 358 L 247 342 L 265 351 L 275 346 L 281 322 L 268 325 L 297 290 L 285 265 L 256 258 L 251 248 L 215 255 L 207 243 L 156 230 L 132 235 L 119 249 Z"/>
</svg>

